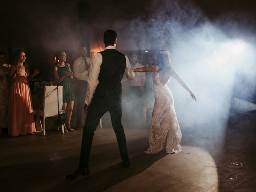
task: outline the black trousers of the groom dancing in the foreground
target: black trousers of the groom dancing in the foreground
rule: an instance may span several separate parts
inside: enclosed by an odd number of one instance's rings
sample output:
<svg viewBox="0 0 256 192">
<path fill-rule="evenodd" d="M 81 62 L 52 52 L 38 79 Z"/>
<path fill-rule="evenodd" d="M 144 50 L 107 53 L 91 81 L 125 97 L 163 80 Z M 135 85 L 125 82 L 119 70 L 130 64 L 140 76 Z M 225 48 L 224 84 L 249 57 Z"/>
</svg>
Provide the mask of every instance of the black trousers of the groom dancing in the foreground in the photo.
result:
<svg viewBox="0 0 256 192">
<path fill-rule="evenodd" d="M 108 93 L 102 96 L 94 95 L 88 109 L 86 121 L 84 124 L 82 146 L 80 153 L 80 168 L 88 167 L 89 156 L 92 147 L 94 131 L 100 122 L 100 118 L 107 111 L 110 113 L 112 127 L 116 134 L 117 143 L 122 160 L 128 160 L 126 148 L 126 138 L 124 128 L 121 123 L 122 118 L 122 99 L 120 94 Z"/>
</svg>

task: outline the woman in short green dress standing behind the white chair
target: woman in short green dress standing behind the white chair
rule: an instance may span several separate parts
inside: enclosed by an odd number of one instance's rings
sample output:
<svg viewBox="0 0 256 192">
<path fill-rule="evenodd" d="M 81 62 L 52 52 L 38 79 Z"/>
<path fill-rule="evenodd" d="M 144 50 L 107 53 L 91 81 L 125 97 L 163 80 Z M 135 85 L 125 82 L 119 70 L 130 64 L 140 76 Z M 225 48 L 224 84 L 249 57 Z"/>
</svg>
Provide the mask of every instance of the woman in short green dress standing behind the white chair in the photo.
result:
<svg viewBox="0 0 256 192">
<path fill-rule="evenodd" d="M 57 64 L 54 66 L 53 73 L 57 84 L 63 86 L 63 112 L 66 113 L 67 116 L 64 128 L 65 132 L 68 132 L 68 130 L 74 131 L 74 129 L 70 127 L 70 120 L 72 116 L 75 96 L 71 83 L 71 80 L 74 78 L 73 72 L 70 70 L 70 64 L 66 63 L 66 58 L 66 53 L 60 52 L 57 58 Z"/>
</svg>

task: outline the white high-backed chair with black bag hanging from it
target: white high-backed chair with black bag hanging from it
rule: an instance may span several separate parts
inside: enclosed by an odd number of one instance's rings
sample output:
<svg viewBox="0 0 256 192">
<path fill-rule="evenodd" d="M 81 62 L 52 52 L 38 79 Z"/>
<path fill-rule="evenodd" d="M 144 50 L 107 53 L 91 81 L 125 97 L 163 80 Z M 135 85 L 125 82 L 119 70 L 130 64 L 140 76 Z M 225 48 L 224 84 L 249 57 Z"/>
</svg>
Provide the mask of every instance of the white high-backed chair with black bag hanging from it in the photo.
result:
<svg viewBox="0 0 256 192">
<path fill-rule="evenodd" d="M 58 86 L 59 91 L 59 113 L 62 113 L 62 86 Z M 45 86 L 44 87 L 44 102 L 43 109 L 38 110 L 38 114 L 44 118 L 44 135 L 45 135 L 45 120 L 48 117 L 58 116 L 58 98 L 57 98 L 57 86 Z M 64 133 L 64 126 L 62 125 L 62 133 Z"/>
</svg>

